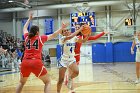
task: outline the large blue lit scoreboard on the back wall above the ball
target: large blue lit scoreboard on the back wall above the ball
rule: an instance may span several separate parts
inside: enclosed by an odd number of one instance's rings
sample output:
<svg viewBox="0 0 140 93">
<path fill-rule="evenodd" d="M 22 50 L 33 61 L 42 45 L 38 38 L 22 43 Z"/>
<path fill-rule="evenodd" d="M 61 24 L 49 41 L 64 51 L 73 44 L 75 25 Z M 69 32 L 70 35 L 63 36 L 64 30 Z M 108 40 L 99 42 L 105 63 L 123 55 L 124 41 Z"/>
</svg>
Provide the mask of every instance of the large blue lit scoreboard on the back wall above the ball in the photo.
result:
<svg viewBox="0 0 140 93">
<path fill-rule="evenodd" d="M 71 13 L 70 15 L 71 20 L 71 30 L 72 32 L 75 31 L 75 25 L 80 23 L 87 23 L 92 32 L 96 31 L 96 20 L 95 20 L 95 12 L 80 12 L 80 13 Z"/>
</svg>

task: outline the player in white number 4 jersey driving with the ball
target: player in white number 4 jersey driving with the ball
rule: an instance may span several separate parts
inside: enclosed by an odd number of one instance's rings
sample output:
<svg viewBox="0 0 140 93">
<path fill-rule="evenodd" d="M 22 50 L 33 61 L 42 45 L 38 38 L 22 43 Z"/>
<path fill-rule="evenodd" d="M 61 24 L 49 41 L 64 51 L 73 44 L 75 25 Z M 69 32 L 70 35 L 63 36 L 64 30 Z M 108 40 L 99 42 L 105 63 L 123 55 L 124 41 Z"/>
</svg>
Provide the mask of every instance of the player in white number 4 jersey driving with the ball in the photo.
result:
<svg viewBox="0 0 140 93">
<path fill-rule="evenodd" d="M 62 38 L 61 38 L 61 45 L 62 45 L 62 56 L 61 60 L 59 62 L 59 79 L 57 82 L 57 93 L 60 93 L 61 87 L 64 81 L 64 76 L 67 68 L 71 70 L 71 74 L 68 77 L 68 84 L 67 87 L 71 89 L 72 79 L 77 77 L 79 74 L 79 69 L 77 67 L 76 61 L 75 61 L 75 43 L 76 42 L 86 42 L 88 39 L 88 36 L 85 39 L 78 39 L 76 35 L 82 31 L 84 26 L 81 26 L 81 28 L 74 33 L 71 33 L 67 29 L 62 31 Z"/>
</svg>

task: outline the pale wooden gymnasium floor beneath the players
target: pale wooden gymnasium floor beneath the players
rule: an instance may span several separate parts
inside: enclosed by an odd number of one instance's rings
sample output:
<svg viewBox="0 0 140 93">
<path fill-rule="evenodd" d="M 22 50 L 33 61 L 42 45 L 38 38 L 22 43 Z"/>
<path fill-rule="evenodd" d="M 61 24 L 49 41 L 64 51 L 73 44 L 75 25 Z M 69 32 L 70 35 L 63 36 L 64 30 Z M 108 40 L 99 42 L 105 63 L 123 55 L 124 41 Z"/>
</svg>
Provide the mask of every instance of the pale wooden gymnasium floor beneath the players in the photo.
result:
<svg viewBox="0 0 140 93">
<path fill-rule="evenodd" d="M 134 63 L 108 63 L 79 65 L 80 74 L 75 79 L 76 93 L 140 93 L 135 84 Z M 56 93 L 57 67 L 48 69 L 51 76 L 51 93 Z M 17 72 L 0 72 L 0 93 L 15 93 L 19 81 Z M 43 93 L 43 83 L 34 75 L 28 79 L 22 93 Z M 68 93 L 65 85 L 61 93 Z"/>
</svg>

